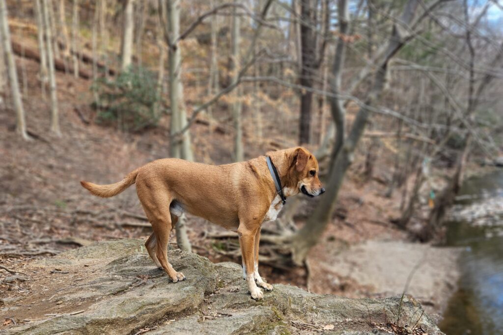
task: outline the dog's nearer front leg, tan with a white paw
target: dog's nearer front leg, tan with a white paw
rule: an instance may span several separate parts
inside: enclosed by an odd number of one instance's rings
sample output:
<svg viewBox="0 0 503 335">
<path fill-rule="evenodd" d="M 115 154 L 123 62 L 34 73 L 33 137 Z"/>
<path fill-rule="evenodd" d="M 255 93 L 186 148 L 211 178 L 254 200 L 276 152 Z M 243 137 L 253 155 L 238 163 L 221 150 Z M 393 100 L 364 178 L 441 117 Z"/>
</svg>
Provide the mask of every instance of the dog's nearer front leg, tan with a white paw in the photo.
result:
<svg viewBox="0 0 503 335">
<path fill-rule="evenodd" d="M 262 290 L 257 287 L 254 277 L 254 267 L 255 267 L 255 236 L 256 231 L 249 230 L 243 225 L 239 225 L 237 230 L 239 235 L 239 245 L 241 246 L 241 257 L 243 258 L 243 272 L 248 285 L 248 290 L 251 293 L 251 297 L 260 300 L 264 297 Z"/>
</svg>

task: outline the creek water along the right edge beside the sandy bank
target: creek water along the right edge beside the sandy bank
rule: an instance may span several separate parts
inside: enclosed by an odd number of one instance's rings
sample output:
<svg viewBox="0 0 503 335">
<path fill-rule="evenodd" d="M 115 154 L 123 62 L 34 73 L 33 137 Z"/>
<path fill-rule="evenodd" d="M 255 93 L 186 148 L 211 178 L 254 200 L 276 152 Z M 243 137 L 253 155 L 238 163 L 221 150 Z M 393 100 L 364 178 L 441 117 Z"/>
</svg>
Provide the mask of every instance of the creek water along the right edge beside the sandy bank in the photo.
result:
<svg viewBox="0 0 503 335">
<path fill-rule="evenodd" d="M 440 329 L 503 334 L 503 169 L 466 180 L 446 224 L 447 245 L 464 251 L 459 289 Z"/>
</svg>

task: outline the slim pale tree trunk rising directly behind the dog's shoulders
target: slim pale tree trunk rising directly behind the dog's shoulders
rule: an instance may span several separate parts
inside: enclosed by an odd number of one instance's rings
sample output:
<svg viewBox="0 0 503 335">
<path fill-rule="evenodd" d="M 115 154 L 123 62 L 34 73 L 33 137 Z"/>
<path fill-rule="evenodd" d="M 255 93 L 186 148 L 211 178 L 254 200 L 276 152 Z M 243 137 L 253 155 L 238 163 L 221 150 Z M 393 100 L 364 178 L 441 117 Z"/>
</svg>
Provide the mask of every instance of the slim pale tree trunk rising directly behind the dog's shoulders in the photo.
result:
<svg viewBox="0 0 503 335">
<path fill-rule="evenodd" d="M 234 0 L 237 4 L 237 0 Z M 237 82 L 238 73 L 240 70 L 240 57 L 239 57 L 239 40 L 240 40 L 240 20 L 237 15 L 237 9 L 234 7 L 234 12 L 232 16 L 232 51 L 231 51 L 231 62 L 230 62 L 230 72 L 232 75 L 232 83 Z M 244 160 L 243 154 L 243 128 L 241 125 L 241 100 L 240 97 L 240 87 L 238 87 L 234 92 L 234 101 L 232 104 L 232 116 L 234 119 L 234 130 L 236 132 L 234 138 L 234 160 L 236 162 L 241 162 Z"/>
</svg>

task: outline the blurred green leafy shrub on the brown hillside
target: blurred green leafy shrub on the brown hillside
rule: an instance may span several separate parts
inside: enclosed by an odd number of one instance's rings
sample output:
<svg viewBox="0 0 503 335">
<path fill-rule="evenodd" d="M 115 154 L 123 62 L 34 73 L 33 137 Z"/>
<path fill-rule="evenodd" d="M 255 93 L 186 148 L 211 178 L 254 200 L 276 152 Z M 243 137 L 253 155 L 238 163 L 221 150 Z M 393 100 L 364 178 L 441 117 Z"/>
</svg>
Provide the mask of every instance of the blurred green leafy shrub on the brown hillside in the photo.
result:
<svg viewBox="0 0 503 335">
<path fill-rule="evenodd" d="M 130 67 L 112 80 L 97 79 L 92 86 L 97 97 L 97 122 L 117 124 L 122 131 L 156 126 L 160 115 L 156 85 L 155 75 L 142 67 Z"/>
</svg>

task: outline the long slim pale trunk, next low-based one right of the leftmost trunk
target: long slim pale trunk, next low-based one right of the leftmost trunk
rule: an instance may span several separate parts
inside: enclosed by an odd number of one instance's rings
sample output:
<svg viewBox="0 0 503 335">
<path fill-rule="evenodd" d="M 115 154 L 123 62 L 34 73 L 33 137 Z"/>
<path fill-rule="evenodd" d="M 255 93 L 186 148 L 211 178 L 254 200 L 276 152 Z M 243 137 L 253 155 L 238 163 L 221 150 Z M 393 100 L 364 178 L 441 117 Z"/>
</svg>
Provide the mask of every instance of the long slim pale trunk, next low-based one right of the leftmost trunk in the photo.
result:
<svg viewBox="0 0 503 335">
<path fill-rule="evenodd" d="M 48 0 L 42 0 L 42 10 L 44 17 L 45 44 L 47 50 L 47 60 L 49 67 L 49 91 L 51 94 L 51 132 L 61 135 L 59 129 L 58 98 L 56 91 L 56 75 L 54 71 L 54 55 L 52 53 L 53 38 L 50 26 Z"/>
</svg>

